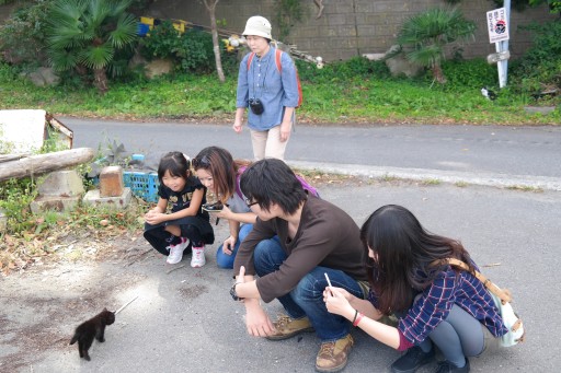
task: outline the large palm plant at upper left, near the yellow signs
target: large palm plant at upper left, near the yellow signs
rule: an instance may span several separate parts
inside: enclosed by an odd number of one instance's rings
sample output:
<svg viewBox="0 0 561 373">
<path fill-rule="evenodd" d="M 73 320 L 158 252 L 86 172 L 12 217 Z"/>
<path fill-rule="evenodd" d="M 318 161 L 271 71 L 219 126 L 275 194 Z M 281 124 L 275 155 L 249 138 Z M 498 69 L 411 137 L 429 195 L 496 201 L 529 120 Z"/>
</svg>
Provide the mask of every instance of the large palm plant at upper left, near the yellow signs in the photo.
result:
<svg viewBox="0 0 561 373">
<path fill-rule="evenodd" d="M 137 21 L 125 12 L 131 0 L 55 0 L 49 9 L 47 50 L 57 71 L 93 71 L 93 84 L 107 91 L 115 54 L 133 45 Z M 116 74 L 123 70 L 114 71 Z"/>
</svg>

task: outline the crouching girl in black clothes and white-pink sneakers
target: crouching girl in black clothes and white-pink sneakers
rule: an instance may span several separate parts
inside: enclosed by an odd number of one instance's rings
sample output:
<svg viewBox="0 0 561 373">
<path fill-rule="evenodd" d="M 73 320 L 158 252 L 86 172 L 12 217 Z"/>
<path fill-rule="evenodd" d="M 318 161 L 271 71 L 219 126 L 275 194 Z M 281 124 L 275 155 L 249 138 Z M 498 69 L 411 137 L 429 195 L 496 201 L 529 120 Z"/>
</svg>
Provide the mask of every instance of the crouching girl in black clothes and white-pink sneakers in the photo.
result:
<svg viewBox="0 0 561 373">
<path fill-rule="evenodd" d="M 205 265 L 205 244 L 213 244 L 215 235 L 207 212 L 206 188 L 191 175 L 191 163 L 181 152 L 170 152 L 160 160 L 158 205 L 145 214 L 145 238 L 163 255 L 169 264 L 180 263 L 193 246 L 191 267 Z M 171 211 L 167 213 L 168 205 Z"/>
</svg>

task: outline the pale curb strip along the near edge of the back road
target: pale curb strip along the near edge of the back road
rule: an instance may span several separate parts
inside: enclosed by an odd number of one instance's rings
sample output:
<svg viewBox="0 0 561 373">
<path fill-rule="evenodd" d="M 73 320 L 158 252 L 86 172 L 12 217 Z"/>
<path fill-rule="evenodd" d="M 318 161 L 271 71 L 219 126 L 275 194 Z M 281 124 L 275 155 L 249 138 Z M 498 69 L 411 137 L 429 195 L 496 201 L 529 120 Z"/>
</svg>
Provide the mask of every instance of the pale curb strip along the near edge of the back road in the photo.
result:
<svg viewBox="0 0 561 373">
<path fill-rule="evenodd" d="M 287 161 L 295 168 L 325 173 L 364 176 L 371 178 L 403 178 L 412 180 L 438 180 L 450 184 L 468 184 L 499 188 L 531 188 L 561 191 L 561 178 L 531 175 L 469 173 L 430 168 L 379 167 L 343 163 Z"/>
</svg>

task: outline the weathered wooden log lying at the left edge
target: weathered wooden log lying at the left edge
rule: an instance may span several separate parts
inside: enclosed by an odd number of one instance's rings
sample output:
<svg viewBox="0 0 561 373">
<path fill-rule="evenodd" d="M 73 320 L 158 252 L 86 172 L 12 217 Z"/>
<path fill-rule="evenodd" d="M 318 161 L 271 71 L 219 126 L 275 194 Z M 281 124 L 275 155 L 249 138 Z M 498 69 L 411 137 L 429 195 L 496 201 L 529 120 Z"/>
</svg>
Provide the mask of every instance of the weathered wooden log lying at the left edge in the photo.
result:
<svg viewBox="0 0 561 373">
<path fill-rule="evenodd" d="M 36 176 L 51 171 L 65 170 L 70 166 L 93 160 L 95 152 L 91 148 L 78 148 L 59 152 L 37 154 L 0 163 L 0 182 L 9 178 Z"/>
</svg>

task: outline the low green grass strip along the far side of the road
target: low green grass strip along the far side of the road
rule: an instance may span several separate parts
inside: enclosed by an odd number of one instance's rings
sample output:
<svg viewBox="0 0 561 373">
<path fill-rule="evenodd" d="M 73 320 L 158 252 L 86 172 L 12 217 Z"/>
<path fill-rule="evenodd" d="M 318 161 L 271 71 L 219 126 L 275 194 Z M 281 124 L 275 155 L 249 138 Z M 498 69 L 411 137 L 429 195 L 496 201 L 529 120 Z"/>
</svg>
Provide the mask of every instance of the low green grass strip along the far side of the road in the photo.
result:
<svg viewBox="0 0 561 373">
<path fill-rule="evenodd" d="M 476 88 L 453 90 L 425 80 L 368 75 L 302 80 L 299 121 L 309 124 L 497 124 L 558 125 L 561 110 L 527 114 L 530 98 L 501 92 L 489 101 Z M 36 88 L 0 63 L 2 108 L 43 108 L 55 115 L 116 119 L 194 119 L 231 121 L 236 74 L 221 84 L 215 75 L 175 74 L 152 81 L 111 82 L 100 95 L 93 88 L 65 84 Z"/>
</svg>

